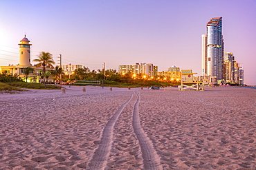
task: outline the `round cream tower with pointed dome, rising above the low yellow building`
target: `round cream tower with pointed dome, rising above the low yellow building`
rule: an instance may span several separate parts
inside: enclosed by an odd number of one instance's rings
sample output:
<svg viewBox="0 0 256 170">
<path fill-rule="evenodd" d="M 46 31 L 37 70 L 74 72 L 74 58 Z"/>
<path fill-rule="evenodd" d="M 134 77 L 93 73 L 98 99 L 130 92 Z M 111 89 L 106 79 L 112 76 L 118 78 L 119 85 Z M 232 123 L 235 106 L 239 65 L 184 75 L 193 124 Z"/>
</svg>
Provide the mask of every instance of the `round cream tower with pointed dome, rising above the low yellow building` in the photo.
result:
<svg viewBox="0 0 256 170">
<path fill-rule="evenodd" d="M 30 64 L 30 41 L 26 38 L 26 34 L 21 39 L 19 45 L 19 65 L 31 65 Z"/>
</svg>

